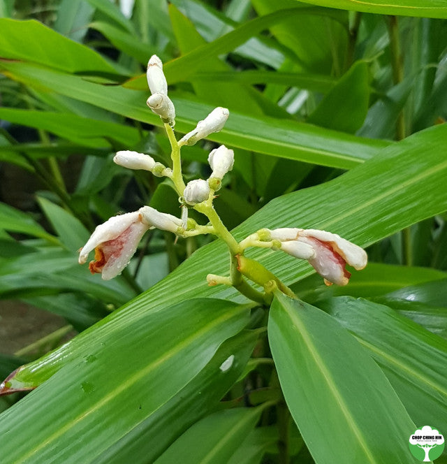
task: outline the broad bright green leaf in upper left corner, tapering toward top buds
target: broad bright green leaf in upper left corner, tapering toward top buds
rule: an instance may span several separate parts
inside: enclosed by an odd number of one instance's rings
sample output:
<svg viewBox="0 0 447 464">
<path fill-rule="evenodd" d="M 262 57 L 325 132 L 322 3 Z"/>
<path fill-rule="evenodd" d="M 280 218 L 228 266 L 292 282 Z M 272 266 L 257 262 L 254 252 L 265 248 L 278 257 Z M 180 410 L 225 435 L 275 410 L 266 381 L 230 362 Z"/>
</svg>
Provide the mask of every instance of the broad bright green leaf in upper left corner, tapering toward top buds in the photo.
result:
<svg viewBox="0 0 447 464">
<path fill-rule="evenodd" d="M 24 59 L 68 73 L 116 74 L 101 55 L 41 22 L 0 18 L 0 29 L 2 58 Z"/>
</svg>

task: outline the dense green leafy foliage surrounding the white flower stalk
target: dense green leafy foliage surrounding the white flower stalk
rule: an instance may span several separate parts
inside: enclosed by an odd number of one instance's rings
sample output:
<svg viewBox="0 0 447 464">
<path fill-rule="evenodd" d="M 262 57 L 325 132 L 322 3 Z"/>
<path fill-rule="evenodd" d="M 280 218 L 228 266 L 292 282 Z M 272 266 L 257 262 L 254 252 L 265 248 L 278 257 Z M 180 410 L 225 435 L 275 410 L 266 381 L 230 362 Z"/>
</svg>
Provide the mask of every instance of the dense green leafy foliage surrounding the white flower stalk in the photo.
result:
<svg viewBox="0 0 447 464">
<path fill-rule="evenodd" d="M 0 0 L 0 175 L 36 182 L 27 205 L 0 192 L 0 298 L 77 333 L 0 356 L 3 378 L 23 365 L 12 389 L 34 389 L 0 398 L 0 461 L 413 462 L 417 427 L 447 433 L 445 2 L 117 3 Z M 258 307 L 207 287 L 228 273 L 222 242 L 159 231 L 112 281 L 78 265 L 117 212 L 179 215 L 168 181 L 112 163 L 170 162 L 145 106 L 154 53 L 177 138 L 230 110 L 182 159 L 206 178 L 216 143 L 234 148 L 215 205 L 235 238 L 339 233 L 369 254 L 347 287 L 250 250 L 301 298 Z"/>
</svg>

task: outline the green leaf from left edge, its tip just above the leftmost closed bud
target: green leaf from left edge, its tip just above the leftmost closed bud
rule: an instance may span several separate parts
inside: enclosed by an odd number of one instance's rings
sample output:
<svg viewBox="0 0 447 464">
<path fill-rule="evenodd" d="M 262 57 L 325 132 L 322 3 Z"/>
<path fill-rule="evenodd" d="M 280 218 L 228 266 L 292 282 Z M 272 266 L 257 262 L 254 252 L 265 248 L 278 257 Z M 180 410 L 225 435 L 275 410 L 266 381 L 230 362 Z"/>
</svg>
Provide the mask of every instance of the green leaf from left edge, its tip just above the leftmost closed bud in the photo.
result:
<svg viewBox="0 0 447 464">
<path fill-rule="evenodd" d="M 140 140 L 140 133 L 133 127 L 89 119 L 72 113 L 0 108 L 0 118 L 15 124 L 44 129 L 89 147 L 110 146 L 110 140 L 133 147 Z"/>
</svg>

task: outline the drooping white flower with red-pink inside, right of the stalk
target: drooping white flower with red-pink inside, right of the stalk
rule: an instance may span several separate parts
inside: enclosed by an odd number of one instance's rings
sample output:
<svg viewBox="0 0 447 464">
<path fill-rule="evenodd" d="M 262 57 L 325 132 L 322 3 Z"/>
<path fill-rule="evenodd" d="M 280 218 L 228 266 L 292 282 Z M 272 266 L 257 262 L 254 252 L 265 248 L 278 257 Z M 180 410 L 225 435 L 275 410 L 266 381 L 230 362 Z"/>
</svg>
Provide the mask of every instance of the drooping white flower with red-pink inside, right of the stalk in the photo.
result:
<svg viewBox="0 0 447 464">
<path fill-rule="evenodd" d="M 325 278 L 326 284 L 346 285 L 351 277 L 346 264 L 356 270 L 367 265 L 365 250 L 336 233 L 281 228 L 270 231 L 268 239 L 279 240 L 281 250 L 295 258 L 307 259 L 316 272 Z"/>
</svg>

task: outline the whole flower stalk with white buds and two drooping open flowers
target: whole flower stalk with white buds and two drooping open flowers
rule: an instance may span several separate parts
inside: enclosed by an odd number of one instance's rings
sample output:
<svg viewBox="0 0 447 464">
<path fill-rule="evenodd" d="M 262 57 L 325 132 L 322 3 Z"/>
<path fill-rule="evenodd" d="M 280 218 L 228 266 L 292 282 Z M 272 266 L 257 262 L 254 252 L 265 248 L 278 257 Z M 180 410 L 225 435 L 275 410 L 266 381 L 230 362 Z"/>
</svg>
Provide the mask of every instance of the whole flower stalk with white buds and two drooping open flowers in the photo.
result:
<svg viewBox="0 0 447 464">
<path fill-rule="evenodd" d="M 182 147 L 191 146 L 210 135 L 221 131 L 229 116 L 226 108 L 215 108 L 199 121 L 196 128 L 177 140 L 174 133 L 175 107 L 168 96 L 168 84 L 163 73 L 161 60 L 153 55 L 147 65 L 147 83 L 151 96 L 147 106 L 159 115 L 164 123 L 170 141 L 172 167 L 157 163 L 148 154 L 133 151 L 120 151 L 114 157 L 116 164 L 129 169 L 141 169 L 152 172 L 158 177 L 168 177 L 173 182 L 182 205 L 182 217 L 159 212 L 149 206 L 138 211 L 111 217 L 96 227 L 85 246 L 80 251 L 79 262 L 85 263 L 89 253 L 95 250 L 94 261 L 89 263 L 91 273 L 101 273 L 103 279 L 115 277 L 126 267 L 135 253 L 142 236 L 149 229 L 170 231 L 183 238 L 211 233 L 221 238 L 228 246 L 230 266 L 228 276 L 207 275 L 209 285 L 227 284 L 235 287 L 247 298 L 258 303 L 268 304 L 272 300 L 272 291 L 279 289 L 294 296 L 279 279 L 265 269 L 261 263 L 244 256 L 249 247 L 262 247 L 279 250 L 306 259 L 322 275 L 326 284 L 346 285 L 351 274 L 346 263 L 356 270 L 367 264 L 365 250 L 335 233 L 316 229 L 280 228 L 261 229 L 244 240 L 237 242 L 221 221 L 214 209 L 215 194 L 221 188 L 222 179 L 233 168 L 234 152 L 220 145 L 210 152 L 208 163 L 212 174 L 207 180 L 191 180 L 187 184 L 182 175 Z M 193 208 L 207 217 L 205 225 L 198 224 L 188 217 Z M 263 291 L 256 290 L 249 282 L 258 284 Z"/>
</svg>

